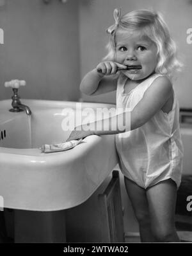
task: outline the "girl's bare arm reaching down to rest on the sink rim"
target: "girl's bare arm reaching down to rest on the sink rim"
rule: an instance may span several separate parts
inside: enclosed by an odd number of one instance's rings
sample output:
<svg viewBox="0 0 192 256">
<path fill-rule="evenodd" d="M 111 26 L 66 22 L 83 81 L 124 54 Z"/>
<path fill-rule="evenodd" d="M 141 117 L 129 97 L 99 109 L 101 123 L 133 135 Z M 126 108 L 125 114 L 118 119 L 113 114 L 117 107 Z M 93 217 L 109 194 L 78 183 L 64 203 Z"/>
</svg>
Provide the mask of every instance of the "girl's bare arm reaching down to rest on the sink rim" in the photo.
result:
<svg viewBox="0 0 192 256">
<path fill-rule="evenodd" d="M 148 122 L 166 104 L 172 94 L 173 88 L 170 80 L 167 77 L 158 77 L 132 111 L 81 125 L 77 127 L 77 131 L 72 131 L 68 140 L 77 140 L 91 134 L 117 134 L 134 130 Z M 102 128 L 98 129 L 98 127 Z"/>
</svg>

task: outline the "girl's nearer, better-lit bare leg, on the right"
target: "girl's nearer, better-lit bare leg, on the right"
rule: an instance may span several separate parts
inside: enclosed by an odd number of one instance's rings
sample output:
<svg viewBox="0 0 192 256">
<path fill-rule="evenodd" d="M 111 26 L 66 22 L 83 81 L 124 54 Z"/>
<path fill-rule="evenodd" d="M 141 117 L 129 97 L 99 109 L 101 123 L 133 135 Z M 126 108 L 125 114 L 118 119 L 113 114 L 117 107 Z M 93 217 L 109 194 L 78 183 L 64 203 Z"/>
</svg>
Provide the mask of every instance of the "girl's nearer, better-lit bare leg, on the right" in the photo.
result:
<svg viewBox="0 0 192 256">
<path fill-rule="evenodd" d="M 176 198 L 177 186 L 172 179 L 166 179 L 147 188 L 152 232 L 158 242 L 179 242 L 175 230 Z"/>
</svg>

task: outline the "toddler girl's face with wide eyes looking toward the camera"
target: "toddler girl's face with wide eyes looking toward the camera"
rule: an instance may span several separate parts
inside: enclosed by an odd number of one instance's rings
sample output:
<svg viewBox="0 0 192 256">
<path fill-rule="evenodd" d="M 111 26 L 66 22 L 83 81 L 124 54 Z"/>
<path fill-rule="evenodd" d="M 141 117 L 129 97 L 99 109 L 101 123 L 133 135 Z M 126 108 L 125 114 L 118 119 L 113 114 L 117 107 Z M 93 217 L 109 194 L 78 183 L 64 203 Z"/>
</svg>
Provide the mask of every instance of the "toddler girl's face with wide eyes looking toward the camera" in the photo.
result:
<svg viewBox="0 0 192 256">
<path fill-rule="evenodd" d="M 116 35 L 116 62 L 127 65 L 140 65 L 141 69 L 123 70 L 131 80 L 141 80 L 155 72 L 157 47 L 147 37 L 132 33 Z"/>
</svg>

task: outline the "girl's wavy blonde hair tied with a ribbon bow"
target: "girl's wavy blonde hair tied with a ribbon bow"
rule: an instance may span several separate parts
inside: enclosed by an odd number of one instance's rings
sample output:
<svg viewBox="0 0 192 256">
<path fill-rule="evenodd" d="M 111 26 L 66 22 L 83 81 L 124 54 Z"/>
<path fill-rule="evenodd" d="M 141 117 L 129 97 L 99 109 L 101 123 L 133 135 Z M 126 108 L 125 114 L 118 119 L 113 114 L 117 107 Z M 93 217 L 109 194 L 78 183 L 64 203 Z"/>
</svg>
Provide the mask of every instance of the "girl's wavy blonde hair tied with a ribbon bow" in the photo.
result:
<svg viewBox="0 0 192 256">
<path fill-rule="evenodd" d="M 138 35 L 148 37 L 157 46 L 156 73 L 171 77 L 173 71 L 180 71 L 182 63 L 177 59 L 177 46 L 161 14 L 151 10 L 135 10 L 120 17 L 120 10 L 115 9 L 114 17 L 115 25 L 108 29 L 111 34 L 107 45 L 108 55 L 103 60 L 115 60 L 116 34 L 138 32 Z"/>
</svg>

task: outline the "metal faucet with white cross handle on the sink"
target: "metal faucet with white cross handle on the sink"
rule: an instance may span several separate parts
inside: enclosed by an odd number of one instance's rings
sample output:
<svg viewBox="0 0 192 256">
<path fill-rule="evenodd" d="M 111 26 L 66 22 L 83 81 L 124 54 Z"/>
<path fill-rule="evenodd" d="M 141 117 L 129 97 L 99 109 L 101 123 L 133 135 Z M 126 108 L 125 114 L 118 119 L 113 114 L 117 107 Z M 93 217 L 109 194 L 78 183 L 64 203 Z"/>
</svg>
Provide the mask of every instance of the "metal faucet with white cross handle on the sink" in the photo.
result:
<svg viewBox="0 0 192 256">
<path fill-rule="evenodd" d="M 13 89 L 13 96 L 12 96 L 12 109 L 10 109 L 11 112 L 20 112 L 20 111 L 26 111 L 26 114 L 28 116 L 31 115 L 31 110 L 27 105 L 21 104 L 20 102 L 20 96 L 18 95 L 18 89 L 20 86 L 25 86 L 26 81 L 24 80 L 11 80 L 10 82 L 5 82 L 5 87 L 12 87 Z"/>
</svg>

